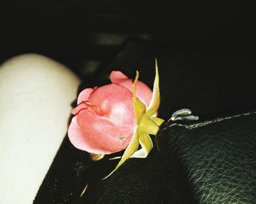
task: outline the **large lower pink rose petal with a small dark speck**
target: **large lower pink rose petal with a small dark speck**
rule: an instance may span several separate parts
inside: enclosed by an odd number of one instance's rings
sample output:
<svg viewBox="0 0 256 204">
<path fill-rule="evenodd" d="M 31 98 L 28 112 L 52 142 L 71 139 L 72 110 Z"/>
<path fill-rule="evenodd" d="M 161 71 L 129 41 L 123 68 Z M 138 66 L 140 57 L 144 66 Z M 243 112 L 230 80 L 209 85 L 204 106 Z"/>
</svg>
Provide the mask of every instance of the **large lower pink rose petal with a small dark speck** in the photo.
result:
<svg viewBox="0 0 256 204">
<path fill-rule="evenodd" d="M 90 109 L 80 111 L 77 122 L 80 133 L 77 136 L 71 135 L 71 138 L 77 138 L 78 143 L 72 144 L 78 149 L 94 154 L 110 154 L 125 149 L 135 128 L 116 125 Z M 81 145 L 81 143 L 86 143 L 86 145 Z"/>
</svg>

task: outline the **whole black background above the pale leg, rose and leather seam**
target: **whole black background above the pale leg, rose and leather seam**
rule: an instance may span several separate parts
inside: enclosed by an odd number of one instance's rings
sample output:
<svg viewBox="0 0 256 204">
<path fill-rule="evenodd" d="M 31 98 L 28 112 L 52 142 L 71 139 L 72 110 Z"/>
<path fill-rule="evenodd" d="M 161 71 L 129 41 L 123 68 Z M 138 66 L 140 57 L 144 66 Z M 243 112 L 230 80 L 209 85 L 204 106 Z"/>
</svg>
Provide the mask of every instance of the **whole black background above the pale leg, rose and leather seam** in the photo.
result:
<svg viewBox="0 0 256 204">
<path fill-rule="evenodd" d="M 255 111 L 255 17 L 244 1 L 15 1 L 1 7 L 0 63 L 38 53 L 99 85 L 111 70 L 152 87 L 159 114 L 201 118 Z"/>
</svg>

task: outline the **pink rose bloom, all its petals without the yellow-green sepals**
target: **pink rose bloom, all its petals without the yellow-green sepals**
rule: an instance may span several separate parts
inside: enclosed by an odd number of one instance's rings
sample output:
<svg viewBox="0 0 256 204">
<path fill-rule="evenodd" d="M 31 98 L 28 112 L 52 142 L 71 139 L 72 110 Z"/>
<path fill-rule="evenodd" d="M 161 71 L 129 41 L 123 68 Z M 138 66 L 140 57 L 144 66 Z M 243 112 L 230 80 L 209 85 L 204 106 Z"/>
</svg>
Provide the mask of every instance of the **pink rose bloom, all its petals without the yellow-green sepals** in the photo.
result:
<svg viewBox="0 0 256 204">
<path fill-rule="evenodd" d="M 121 71 L 112 71 L 112 84 L 87 88 L 78 96 L 75 117 L 68 136 L 78 149 L 94 154 L 111 154 L 126 149 L 136 127 L 132 101 L 132 79 Z M 138 99 L 147 107 L 152 91 L 143 82 L 136 83 Z"/>
</svg>

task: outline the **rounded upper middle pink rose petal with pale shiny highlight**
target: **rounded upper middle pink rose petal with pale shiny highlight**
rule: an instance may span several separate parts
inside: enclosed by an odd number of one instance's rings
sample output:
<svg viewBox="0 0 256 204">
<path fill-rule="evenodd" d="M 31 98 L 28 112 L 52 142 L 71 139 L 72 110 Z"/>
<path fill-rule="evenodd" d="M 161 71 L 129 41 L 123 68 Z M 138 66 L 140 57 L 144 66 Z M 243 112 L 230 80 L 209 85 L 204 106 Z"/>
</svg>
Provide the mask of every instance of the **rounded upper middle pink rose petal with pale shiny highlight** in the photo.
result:
<svg viewBox="0 0 256 204">
<path fill-rule="evenodd" d="M 116 84 L 98 87 L 91 93 L 89 101 L 100 109 L 105 118 L 116 125 L 135 125 L 132 93 L 126 88 Z"/>
</svg>

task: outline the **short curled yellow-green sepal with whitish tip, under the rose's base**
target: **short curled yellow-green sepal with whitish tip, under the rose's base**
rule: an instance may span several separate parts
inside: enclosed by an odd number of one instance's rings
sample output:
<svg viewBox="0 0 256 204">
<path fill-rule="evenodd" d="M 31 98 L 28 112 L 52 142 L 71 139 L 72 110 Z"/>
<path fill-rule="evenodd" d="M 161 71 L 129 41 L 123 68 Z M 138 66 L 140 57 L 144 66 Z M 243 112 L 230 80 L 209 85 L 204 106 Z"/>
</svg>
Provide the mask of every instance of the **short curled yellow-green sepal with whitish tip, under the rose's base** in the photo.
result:
<svg viewBox="0 0 256 204">
<path fill-rule="evenodd" d="M 132 154 L 131 158 L 146 158 L 148 153 L 153 148 L 153 143 L 151 141 L 150 136 L 148 134 L 140 134 L 140 146 L 142 147 L 137 152 Z"/>
</svg>

